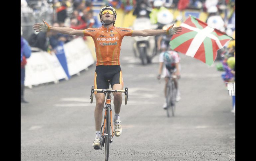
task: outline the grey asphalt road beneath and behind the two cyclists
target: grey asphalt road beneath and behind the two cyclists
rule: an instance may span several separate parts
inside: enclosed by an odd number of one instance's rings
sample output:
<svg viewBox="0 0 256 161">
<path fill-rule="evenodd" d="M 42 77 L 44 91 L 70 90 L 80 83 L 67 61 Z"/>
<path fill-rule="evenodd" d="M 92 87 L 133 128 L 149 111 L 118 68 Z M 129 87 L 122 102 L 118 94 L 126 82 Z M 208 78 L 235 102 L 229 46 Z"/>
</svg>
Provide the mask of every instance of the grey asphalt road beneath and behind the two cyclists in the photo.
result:
<svg viewBox="0 0 256 161">
<path fill-rule="evenodd" d="M 235 117 L 232 98 L 216 71 L 180 54 L 181 100 L 176 116 L 162 109 L 164 80 L 158 81 L 158 58 L 142 66 L 132 38 L 122 43 L 121 68 L 129 101 L 121 107 L 122 135 L 110 144 L 110 161 L 234 161 Z M 25 90 L 21 104 L 21 160 L 103 161 L 94 150 L 94 107 L 90 104 L 95 65 L 59 84 Z"/>
</svg>

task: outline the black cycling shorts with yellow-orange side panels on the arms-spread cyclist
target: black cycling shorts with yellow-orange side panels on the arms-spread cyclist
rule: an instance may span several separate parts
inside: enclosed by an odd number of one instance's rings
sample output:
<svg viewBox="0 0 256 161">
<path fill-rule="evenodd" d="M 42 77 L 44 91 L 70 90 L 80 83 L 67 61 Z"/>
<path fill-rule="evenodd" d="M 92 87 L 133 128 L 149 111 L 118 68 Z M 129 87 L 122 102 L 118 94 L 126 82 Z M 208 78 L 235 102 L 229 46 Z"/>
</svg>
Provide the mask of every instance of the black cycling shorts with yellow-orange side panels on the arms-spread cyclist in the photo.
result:
<svg viewBox="0 0 256 161">
<path fill-rule="evenodd" d="M 109 89 L 109 84 L 111 84 L 111 88 L 113 88 L 115 84 L 124 85 L 120 65 L 96 66 L 94 77 L 94 89 Z M 103 92 L 97 91 L 97 93 Z"/>
</svg>

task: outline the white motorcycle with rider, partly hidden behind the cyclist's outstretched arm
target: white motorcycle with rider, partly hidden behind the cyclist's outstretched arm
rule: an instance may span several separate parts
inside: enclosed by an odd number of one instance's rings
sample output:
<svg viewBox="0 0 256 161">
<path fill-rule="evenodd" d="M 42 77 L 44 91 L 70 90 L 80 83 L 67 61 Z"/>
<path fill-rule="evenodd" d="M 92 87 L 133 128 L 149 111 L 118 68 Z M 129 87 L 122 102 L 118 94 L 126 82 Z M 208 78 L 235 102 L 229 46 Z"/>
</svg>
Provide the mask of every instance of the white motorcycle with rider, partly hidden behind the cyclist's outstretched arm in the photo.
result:
<svg viewBox="0 0 256 161">
<path fill-rule="evenodd" d="M 135 19 L 133 30 L 156 29 L 157 25 L 152 25 L 150 19 L 146 17 L 146 10 L 141 10 Z M 152 58 L 157 54 L 155 36 L 133 37 L 133 52 L 135 57 L 139 57 L 143 65 L 152 62 Z"/>
</svg>

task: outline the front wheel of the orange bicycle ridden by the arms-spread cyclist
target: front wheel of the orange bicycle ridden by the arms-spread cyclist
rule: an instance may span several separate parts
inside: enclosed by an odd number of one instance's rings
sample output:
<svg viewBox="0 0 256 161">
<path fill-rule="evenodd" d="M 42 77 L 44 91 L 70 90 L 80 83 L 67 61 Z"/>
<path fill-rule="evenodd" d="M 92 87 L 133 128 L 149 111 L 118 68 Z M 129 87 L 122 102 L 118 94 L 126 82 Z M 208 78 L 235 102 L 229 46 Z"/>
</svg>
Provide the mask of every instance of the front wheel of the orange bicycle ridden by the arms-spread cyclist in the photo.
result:
<svg viewBox="0 0 256 161">
<path fill-rule="evenodd" d="M 109 142 L 110 142 L 110 109 L 107 108 L 106 128 L 105 128 L 105 161 L 108 161 L 109 156 Z"/>
</svg>

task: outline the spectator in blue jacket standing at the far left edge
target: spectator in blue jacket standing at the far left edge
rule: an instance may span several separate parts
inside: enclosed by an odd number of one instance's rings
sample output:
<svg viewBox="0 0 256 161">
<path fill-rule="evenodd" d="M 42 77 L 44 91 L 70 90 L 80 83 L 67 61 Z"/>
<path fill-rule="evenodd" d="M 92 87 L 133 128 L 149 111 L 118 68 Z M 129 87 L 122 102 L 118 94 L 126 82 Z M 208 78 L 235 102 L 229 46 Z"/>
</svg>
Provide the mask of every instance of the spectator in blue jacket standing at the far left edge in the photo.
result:
<svg viewBox="0 0 256 161">
<path fill-rule="evenodd" d="M 27 101 L 25 101 L 24 99 L 24 83 L 25 83 L 25 65 L 27 64 L 27 60 L 26 58 L 29 58 L 31 55 L 31 48 L 29 46 L 29 43 L 27 42 L 27 40 L 25 40 L 23 37 L 23 32 L 22 32 L 22 27 L 21 27 L 21 49 L 20 49 L 20 55 L 21 55 L 21 66 L 20 66 L 20 102 L 21 103 L 28 103 Z"/>
</svg>

